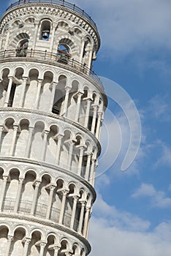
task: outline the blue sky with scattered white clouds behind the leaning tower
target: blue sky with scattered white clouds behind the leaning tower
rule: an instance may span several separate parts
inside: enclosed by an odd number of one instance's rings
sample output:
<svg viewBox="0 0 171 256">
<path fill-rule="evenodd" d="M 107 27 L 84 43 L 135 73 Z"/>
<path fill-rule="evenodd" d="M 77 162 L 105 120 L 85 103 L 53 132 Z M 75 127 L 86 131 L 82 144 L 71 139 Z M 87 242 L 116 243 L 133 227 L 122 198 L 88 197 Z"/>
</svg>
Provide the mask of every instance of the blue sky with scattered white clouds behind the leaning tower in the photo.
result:
<svg viewBox="0 0 171 256">
<path fill-rule="evenodd" d="M 70 2 L 86 10 L 98 26 L 102 46 L 94 69 L 103 77 L 107 92 L 110 88 L 115 94 L 113 81 L 118 83 L 134 100 L 142 125 L 137 157 L 123 172 L 130 129 L 122 106 L 111 97 L 97 170 L 104 173 L 96 177 L 98 195 L 89 230 L 91 256 L 169 256 L 171 1 Z M 1 13 L 6 7 L 1 4 Z M 107 169 L 111 159 L 113 165 Z"/>
</svg>

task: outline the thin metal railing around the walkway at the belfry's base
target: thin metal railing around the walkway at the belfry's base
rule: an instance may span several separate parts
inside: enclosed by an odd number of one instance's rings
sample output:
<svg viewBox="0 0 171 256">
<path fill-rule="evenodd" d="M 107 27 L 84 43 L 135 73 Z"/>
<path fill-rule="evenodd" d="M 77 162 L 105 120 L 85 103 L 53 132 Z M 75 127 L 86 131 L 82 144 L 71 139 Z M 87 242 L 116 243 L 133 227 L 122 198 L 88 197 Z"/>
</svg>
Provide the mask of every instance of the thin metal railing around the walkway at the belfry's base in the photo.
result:
<svg viewBox="0 0 171 256">
<path fill-rule="evenodd" d="M 92 78 L 96 83 L 99 84 L 99 86 L 104 89 L 102 81 L 96 75 L 96 73 L 92 69 L 88 69 L 86 65 L 75 61 L 75 59 L 70 58 L 69 56 L 64 56 L 64 54 L 61 54 L 61 51 L 59 50 L 58 53 L 49 53 L 47 50 L 28 50 L 28 49 L 22 49 L 22 50 L 2 50 L 0 51 L 0 61 L 1 59 L 18 59 L 22 58 L 25 61 L 27 60 L 37 60 L 37 61 L 50 61 L 53 64 L 63 64 L 64 68 L 66 67 L 72 67 L 73 69 L 76 69 L 79 72 L 82 72 L 85 75 L 88 75 L 90 78 Z"/>
</svg>

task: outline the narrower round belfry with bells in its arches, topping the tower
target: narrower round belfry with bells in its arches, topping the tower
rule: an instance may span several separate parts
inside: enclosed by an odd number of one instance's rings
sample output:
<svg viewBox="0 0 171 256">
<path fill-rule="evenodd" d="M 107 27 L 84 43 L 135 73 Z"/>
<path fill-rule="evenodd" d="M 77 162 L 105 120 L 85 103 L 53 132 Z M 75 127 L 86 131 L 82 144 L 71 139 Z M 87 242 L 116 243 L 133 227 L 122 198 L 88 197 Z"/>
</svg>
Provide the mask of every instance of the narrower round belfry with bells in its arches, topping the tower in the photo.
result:
<svg viewBox="0 0 171 256">
<path fill-rule="evenodd" d="M 0 50 L 20 50 L 27 42 L 28 49 L 56 53 L 64 45 L 66 58 L 72 57 L 91 68 L 100 45 L 94 24 L 61 4 L 27 2 L 10 8 L 1 18 Z"/>
</svg>

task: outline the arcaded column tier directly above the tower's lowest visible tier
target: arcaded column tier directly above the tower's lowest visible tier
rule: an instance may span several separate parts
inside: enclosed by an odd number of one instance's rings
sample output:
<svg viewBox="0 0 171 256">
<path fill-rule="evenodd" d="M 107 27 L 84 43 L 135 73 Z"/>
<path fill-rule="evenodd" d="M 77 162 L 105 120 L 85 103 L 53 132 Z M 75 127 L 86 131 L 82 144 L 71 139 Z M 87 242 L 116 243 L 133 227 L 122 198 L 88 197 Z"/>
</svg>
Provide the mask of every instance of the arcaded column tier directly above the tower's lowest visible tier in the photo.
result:
<svg viewBox="0 0 171 256">
<path fill-rule="evenodd" d="M 7 173 L 0 162 L 0 188 L 1 212 L 56 222 L 87 237 L 94 197 L 83 184 L 67 184 L 60 176 L 52 181 L 49 173 L 37 178 L 31 169 L 23 176 L 15 165 Z"/>
</svg>

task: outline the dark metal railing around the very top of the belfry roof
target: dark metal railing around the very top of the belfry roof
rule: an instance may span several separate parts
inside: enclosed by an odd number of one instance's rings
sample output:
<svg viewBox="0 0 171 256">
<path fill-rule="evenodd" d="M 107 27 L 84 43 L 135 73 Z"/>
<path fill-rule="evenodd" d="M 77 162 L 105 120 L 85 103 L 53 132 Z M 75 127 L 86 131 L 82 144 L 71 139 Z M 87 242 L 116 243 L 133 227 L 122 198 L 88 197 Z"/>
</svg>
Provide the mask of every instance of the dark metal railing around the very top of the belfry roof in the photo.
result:
<svg viewBox="0 0 171 256">
<path fill-rule="evenodd" d="M 91 24 L 93 24 L 96 28 L 96 23 L 94 23 L 94 20 L 92 20 L 91 17 L 84 10 L 81 10 L 75 4 L 71 4 L 68 1 L 64 1 L 64 0 L 19 0 L 19 1 L 15 1 L 15 3 L 9 5 L 7 10 L 11 9 L 12 7 L 21 5 L 21 4 L 37 4 L 37 3 L 56 4 L 56 5 L 66 7 L 69 10 L 73 10 L 73 11 L 79 13 L 80 15 L 83 15 L 83 17 L 86 18 L 87 20 L 89 20 L 91 22 Z"/>
</svg>

